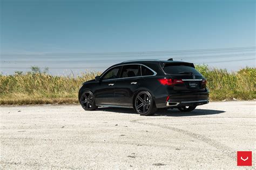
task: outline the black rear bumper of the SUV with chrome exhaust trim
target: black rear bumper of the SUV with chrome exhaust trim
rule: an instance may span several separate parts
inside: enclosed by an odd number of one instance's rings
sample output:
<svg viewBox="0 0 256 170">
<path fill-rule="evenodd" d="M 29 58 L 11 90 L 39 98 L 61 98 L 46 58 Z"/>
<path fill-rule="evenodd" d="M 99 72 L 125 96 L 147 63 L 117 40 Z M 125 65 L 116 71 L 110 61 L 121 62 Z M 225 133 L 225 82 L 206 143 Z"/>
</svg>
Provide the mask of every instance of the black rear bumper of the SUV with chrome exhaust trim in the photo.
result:
<svg viewBox="0 0 256 170">
<path fill-rule="evenodd" d="M 179 93 L 169 94 L 169 100 L 166 101 L 166 97 L 159 98 L 156 106 L 158 108 L 163 107 L 180 107 L 180 106 L 198 106 L 209 103 L 209 92 L 197 92 L 197 93 Z"/>
</svg>

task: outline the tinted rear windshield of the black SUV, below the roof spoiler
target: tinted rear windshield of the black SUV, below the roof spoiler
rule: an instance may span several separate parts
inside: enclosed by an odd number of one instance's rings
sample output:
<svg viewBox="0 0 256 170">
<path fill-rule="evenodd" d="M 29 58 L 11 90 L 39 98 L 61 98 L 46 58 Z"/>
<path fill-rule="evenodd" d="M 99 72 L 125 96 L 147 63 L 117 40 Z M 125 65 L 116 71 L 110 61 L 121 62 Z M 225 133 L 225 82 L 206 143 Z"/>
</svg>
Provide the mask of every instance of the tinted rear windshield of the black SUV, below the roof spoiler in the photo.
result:
<svg viewBox="0 0 256 170">
<path fill-rule="evenodd" d="M 163 70 L 166 74 L 193 74 L 193 75 L 199 74 L 200 75 L 200 73 L 196 69 L 194 69 L 194 67 L 187 66 L 187 65 L 166 64 Z"/>
</svg>

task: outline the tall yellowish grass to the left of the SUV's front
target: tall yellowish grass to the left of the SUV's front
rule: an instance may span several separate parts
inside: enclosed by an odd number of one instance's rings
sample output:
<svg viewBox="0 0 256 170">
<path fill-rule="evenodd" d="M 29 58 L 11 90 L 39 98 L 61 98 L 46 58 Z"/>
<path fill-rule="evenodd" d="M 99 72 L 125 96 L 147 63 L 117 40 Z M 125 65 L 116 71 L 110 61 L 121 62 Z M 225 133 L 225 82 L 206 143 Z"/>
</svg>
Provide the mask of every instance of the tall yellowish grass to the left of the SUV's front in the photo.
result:
<svg viewBox="0 0 256 170">
<path fill-rule="evenodd" d="M 47 73 L 26 73 L 0 76 L 0 104 L 77 103 L 77 93 L 84 81 L 99 72 L 77 77 L 51 76 Z"/>
</svg>

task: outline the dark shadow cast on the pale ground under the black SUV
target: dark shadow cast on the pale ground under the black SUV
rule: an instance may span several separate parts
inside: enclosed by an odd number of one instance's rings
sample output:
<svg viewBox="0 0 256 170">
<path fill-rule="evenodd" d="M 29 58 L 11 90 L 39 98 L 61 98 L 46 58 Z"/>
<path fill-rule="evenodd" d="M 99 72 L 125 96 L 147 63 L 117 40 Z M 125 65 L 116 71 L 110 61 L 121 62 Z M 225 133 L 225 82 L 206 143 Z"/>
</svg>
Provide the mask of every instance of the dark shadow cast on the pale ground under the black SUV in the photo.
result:
<svg viewBox="0 0 256 170">
<path fill-rule="evenodd" d="M 129 113 L 129 114 L 137 114 L 133 108 L 118 108 L 118 107 L 99 107 L 99 111 L 105 112 L 116 112 L 116 113 Z M 195 109 L 191 112 L 180 112 L 178 109 L 174 108 L 164 110 L 160 109 L 152 116 L 169 116 L 169 117 L 184 117 L 184 116 L 195 116 L 195 115 L 211 115 L 211 114 L 220 114 L 224 113 L 225 111 L 220 110 L 210 110 L 210 109 Z"/>
</svg>

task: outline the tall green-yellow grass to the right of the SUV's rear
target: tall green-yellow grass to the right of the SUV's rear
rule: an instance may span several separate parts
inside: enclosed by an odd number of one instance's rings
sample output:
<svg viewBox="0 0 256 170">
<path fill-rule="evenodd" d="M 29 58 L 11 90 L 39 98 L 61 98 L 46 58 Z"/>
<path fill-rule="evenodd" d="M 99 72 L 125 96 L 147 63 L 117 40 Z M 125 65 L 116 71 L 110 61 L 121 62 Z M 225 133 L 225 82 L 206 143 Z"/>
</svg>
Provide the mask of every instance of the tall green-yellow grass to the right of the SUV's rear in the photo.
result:
<svg viewBox="0 0 256 170">
<path fill-rule="evenodd" d="M 245 67 L 237 72 L 225 69 L 210 69 L 207 65 L 197 65 L 196 69 L 207 79 L 211 100 L 256 98 L 256 69 Z"/>
</svg>

